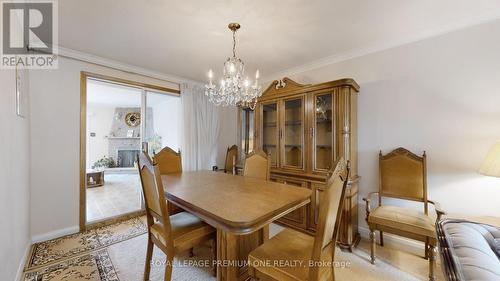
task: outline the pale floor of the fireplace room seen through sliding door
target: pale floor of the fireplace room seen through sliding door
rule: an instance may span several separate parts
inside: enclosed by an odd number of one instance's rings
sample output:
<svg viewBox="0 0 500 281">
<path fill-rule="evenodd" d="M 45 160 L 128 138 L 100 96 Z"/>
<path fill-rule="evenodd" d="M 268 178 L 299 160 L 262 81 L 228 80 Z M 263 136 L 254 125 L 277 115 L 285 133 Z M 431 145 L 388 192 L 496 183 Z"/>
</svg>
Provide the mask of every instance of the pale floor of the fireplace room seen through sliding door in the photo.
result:
<svg viewBox="0 0 500 281">
<path fill-rule="evenodd" d="M 103 186 L 87 188 L 87 221 L 99 221 L 141 209 L 137 172 L 104 173 Z"/>
</svg>

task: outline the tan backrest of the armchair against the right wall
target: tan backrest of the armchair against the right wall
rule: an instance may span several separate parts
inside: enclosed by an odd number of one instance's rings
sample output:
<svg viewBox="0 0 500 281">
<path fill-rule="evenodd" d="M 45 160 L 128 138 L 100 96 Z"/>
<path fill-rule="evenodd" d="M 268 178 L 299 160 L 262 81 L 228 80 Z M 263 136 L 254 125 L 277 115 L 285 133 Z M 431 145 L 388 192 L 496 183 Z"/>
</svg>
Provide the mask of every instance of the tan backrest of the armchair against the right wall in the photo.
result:
<svg viewBox="0 0 500 281">
<path fill-rule="evenodd" d="M 379 205 L 381 197 L 393 197 L 425 203 L 427 213 L 426 154 L 422 157 L 399 147 L 382 155 L 379 153 Z"/>
</svg>

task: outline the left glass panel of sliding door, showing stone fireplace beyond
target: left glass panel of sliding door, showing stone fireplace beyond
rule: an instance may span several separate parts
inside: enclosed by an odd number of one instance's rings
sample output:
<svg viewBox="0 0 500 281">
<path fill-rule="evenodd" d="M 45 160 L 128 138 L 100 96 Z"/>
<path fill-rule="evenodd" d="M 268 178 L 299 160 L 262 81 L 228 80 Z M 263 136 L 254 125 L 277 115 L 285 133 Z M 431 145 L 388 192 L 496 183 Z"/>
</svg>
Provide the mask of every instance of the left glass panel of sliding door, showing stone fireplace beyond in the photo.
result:
<svg viewBox="0 0 500 281">
<path fill-rule="evenodd" d="M 87 81 L 87 222 L 142 209 L 134 166 L 141 149 L 142 95 L 137 88 Z"/>
</svg>

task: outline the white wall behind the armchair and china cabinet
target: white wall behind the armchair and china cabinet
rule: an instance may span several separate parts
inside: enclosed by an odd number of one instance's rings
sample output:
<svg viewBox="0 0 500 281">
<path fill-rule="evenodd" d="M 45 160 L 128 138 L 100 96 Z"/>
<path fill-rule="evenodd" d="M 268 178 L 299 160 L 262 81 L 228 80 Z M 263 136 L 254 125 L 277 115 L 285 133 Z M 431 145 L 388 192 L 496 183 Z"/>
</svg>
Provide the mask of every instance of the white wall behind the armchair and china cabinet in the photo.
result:
<svg viewBox="0 0 500 281">
<path fill-rule="evenodd" d="M 429 198 L 451 213 L 500 216 L 500 179 L 479 175 L 500 141 L 500 21 L 304 71 L 300 83 L 354 78 L 361 198 L 378 189 L 378 156 L 428 155 Z"/>
</svg>

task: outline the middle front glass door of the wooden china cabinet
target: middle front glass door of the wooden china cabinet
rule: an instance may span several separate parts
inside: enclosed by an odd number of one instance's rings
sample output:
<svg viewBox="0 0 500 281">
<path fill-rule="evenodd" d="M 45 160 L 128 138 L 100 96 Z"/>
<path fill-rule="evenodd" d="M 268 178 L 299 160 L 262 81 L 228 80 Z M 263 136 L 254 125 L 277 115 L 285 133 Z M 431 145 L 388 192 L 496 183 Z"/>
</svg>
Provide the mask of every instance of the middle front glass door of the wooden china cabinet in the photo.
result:
<svg viewBox="0 0 500 281">
<path fill-rule="evenodd" d="M 285 100 L 284 126 L 281 132 L 283 140 L 284 167 L 303 169 L 304 163 L 304 99 Z"/>
</svg>

